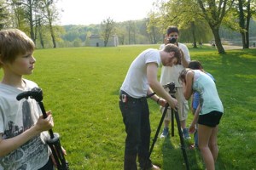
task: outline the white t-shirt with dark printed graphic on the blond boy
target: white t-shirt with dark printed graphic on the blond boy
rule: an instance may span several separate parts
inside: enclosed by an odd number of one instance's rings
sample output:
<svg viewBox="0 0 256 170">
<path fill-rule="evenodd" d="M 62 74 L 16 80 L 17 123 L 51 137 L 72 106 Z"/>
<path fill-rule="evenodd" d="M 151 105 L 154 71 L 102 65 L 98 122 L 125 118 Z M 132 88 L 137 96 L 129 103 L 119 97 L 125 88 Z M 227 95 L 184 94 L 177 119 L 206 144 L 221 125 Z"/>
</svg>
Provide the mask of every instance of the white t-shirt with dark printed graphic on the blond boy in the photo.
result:
<svg viewBox="0 0 256 170">
<path fill-rule="evenodd" d="M 23 79 L 26 89 L 38 87 L 35 82 Z M 0 83 L 0 133 L 2 139 L 13 138 L 34 126 L 42 111 L 35 99 L 21 99 L 16 96 L 24 92 L 18 88 Z M 35 170 L 43 167 L 49 158 L 49 148 L 44 144 L 47 132 L 29 140 L 7 156 L 0 157 L 0 170 Z"/>
</svg>

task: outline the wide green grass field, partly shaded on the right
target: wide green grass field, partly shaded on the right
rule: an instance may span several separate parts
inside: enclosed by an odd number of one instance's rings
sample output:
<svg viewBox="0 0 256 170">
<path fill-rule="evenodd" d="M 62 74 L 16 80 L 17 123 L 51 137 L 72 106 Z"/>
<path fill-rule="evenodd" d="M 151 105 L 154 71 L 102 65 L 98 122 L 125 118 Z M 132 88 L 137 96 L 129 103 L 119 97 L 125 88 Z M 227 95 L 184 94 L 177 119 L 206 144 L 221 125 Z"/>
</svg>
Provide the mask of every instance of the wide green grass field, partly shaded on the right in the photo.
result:
<svg viewBox="0 0 256 170">
<path fill-rule="evenodd" d="M 26 78 L 44 91 L 44 106 L 55 118 L 70 169 L 122 169 L 125 126 L 119 111 L 119 88 L 137 54 L 150 46 L 55 48 L 36 50 L 34 73 Z M 224 104 L 219 125 L 216 169 L 256 169 L 256 50 L 189 48 L 216 79 Z M 1 71 L 1 75 L 3 71 Z M 160 76 L 160 71 L 159 71 Z M 148 99 L 152 139 L 160 121 L 159 106 Z M 189 122 L 192 120 L 189 112 Z M 192 143 L 193 139 L 188 143 Z M 187 150 L 190 169 L 205 169 L 198 150 Z M 158 139 L 151 155 L 162 169 L 185 169 L 177 131 Z"/>
</svg>

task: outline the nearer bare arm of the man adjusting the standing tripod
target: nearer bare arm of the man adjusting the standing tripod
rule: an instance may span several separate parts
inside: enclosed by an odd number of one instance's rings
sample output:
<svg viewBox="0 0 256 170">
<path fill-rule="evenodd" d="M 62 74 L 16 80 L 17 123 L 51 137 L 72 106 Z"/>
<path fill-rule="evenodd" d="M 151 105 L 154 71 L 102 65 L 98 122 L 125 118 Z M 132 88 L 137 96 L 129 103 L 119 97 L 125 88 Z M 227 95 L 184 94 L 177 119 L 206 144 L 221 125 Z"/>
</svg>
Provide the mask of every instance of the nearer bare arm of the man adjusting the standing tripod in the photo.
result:
<svg viewBox="0 0 256 170">
<path fill-rule="evenodd" d="M 166 99 L 168 104 L 175 109 L 177 106 L 177 99 L 172 98 L 170 94 L 168 94 L 165 88 L 162 87 L 160 82 L 157 80 L 158 67 L 156 63 L 148 63 L 147 64 L 147 77 L 148 84 L 150 88 L 154 91 L 155 94 L 159 95 L 163 99 Z"/>
</svg>

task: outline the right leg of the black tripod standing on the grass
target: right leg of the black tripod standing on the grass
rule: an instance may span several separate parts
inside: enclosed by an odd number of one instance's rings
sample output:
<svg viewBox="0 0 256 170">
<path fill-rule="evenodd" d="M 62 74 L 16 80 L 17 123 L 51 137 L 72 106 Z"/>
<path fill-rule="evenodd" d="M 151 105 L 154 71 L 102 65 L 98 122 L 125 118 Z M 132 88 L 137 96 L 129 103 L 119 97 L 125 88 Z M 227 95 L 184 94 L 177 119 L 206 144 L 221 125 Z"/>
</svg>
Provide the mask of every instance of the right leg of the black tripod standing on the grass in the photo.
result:
<svg viewBox="0 0 256 170">
<path fill-rule="evenodd" d="M 181 125 L 180 125 L 180 121 L 179 121 L 179 117 L 178 117 L 177 111 L 175 111 L 175 118 L 176 118 L 176 122 L 177 122 L 177 130 L 178 130 L 178 134 L 179 134 L 181 149 L 183 151 L 183 159 L 185 161 L 187 170 L 189 170 L 189 160 L 188 160 L 187 152 L 185 150 L 185 143 L 184 143 L 184 139 L 183 139 L 183 132 L 181 130 Z"/>
</svg>

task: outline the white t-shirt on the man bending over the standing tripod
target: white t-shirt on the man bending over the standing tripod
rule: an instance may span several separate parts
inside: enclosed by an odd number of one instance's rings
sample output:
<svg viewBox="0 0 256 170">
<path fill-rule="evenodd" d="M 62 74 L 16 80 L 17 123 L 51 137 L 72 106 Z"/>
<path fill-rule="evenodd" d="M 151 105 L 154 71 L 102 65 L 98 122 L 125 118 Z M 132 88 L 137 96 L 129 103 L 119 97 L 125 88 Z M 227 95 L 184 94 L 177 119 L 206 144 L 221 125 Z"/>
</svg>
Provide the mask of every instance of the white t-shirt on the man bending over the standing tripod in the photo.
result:
<svg viewBox="0 0 256 170">
<path fill-rule="evenodd" d="M 142 98 L 147 96 L 149 88 L 147 78 L 147 64 L 156 63 L 160 66 L 160 51 L 149 48 L 137 56 L 131 63 L 131 66 L 121 86 L 121 90 L 133 98 Z"/>
</svg>

